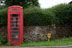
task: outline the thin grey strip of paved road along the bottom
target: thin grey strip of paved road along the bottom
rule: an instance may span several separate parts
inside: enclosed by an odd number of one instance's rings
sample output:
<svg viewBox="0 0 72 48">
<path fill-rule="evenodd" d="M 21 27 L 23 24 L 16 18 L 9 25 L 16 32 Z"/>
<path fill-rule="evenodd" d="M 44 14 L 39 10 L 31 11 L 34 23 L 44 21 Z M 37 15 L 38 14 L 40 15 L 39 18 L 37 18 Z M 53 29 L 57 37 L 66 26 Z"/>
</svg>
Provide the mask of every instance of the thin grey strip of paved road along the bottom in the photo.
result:
<svg viewBox="0 0 72 48">
<path fill-rule="evenodd" d="M 72 46 L 43 46 L 43 47 L 18 47 L 18 46 L 5 46 L 0 48 L 72 48 Z"/>
</svg>

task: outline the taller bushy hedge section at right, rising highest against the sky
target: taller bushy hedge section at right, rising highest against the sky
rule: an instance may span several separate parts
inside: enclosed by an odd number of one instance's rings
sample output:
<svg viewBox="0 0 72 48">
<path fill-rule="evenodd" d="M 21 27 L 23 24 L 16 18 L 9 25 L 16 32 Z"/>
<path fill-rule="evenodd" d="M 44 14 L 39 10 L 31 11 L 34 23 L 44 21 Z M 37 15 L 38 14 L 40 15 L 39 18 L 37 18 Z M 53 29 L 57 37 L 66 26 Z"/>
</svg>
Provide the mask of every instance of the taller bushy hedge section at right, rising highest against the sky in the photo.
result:
<svg viewBox="0 0 72 48">
<path fill-rule="evenodd" d="M 59 4 L 51 8 L 56 15 L 56 24 L 71 24 L 72 6 L 69 4 Z"/>
</svg>

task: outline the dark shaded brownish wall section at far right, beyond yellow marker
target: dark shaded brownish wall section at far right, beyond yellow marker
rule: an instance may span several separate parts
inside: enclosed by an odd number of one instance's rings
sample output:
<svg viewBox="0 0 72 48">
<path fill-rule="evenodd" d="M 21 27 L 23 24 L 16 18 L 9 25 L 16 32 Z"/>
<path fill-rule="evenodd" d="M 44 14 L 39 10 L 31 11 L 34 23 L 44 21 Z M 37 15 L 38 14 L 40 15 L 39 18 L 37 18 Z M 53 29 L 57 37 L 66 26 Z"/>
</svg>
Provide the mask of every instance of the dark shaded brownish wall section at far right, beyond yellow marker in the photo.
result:
<svg viewBox="0 0 72 48">
<path fill-rule="evenodd" d="M 56 25 L 56 38 L 72 36 L 72 25 Z"/>
</svg>

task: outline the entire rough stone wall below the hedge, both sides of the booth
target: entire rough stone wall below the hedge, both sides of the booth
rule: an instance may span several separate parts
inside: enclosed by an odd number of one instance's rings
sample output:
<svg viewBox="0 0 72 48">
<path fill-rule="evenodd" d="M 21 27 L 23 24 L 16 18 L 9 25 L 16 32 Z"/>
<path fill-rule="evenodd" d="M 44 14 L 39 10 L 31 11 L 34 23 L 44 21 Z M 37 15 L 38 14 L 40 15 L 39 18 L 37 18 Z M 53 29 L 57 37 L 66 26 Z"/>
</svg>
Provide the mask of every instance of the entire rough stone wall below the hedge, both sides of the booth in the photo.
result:
<svg viewBox="0 0 72 48">
<path fill-rule="evenodd" d="M 48 32 L 52 33 L 51 39 L 72 36 L 72 26 L 51 25 L 51 26 L 25 26 L 24 42 L 45 41 Z M 0 38 L 7 37 L 7 27 L 0 27 Z"/>
</svg>

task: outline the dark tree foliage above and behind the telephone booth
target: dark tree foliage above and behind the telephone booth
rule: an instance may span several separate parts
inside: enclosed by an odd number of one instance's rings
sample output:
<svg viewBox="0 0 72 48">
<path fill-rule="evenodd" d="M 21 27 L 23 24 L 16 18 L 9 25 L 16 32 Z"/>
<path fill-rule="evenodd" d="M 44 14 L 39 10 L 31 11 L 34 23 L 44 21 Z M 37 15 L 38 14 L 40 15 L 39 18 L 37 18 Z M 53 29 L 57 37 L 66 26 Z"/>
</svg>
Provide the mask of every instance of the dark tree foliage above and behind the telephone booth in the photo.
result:
<svg viewBox="0 0 72 48">
<path fill-rule="evenodd" d="M 6 0 L 6 5 L 21 5 L 24 8 L 27 8 L 29 6 L 39 6 L 38 0 Z"/>
</svg>

